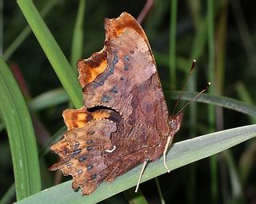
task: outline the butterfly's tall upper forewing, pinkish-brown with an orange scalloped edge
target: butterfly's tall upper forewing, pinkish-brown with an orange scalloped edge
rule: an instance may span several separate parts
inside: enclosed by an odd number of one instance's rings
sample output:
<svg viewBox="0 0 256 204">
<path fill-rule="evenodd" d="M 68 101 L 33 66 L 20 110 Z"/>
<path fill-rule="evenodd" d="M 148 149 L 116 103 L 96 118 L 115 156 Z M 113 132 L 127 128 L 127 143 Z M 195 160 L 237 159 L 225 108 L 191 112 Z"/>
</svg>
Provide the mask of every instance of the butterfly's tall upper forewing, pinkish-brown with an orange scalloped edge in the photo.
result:
<svg viewBox="0 0 256 204">
<path fill-rule="evenodd" d="M 147 124 L 165 133 L 168 111 L 154 57 L 144 31 L 130 15 L 129 19 L 129 25 L 134 26 L 121 26 L 115 33 L 111 31 L 114 37 L 106 37 L 103 50 L 107 66 L 101 74 L 85 82 L 80 67 L 85 106 L 110 107 L 129 124 Z M 111 21 L 106 21 L 106 36 L 112 30 Z M 114 26 L 118 21 L 115 19 Z"/>
</svg>

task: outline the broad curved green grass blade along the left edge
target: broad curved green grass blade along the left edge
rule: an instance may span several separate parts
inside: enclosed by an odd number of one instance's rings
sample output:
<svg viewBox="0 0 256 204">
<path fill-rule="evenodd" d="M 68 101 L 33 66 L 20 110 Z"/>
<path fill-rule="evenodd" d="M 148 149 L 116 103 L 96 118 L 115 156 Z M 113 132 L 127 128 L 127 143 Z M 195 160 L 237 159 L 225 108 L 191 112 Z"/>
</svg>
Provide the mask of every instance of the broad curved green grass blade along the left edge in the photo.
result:
<svg viewBox="0 0 256 204">
<path fill-rule="evenodd" d="M 0 58 L 0 110 L 6 124 L 14 166 L 17 200 L 41 190 L 38 150 L 26 102 Z"/>
</svg>

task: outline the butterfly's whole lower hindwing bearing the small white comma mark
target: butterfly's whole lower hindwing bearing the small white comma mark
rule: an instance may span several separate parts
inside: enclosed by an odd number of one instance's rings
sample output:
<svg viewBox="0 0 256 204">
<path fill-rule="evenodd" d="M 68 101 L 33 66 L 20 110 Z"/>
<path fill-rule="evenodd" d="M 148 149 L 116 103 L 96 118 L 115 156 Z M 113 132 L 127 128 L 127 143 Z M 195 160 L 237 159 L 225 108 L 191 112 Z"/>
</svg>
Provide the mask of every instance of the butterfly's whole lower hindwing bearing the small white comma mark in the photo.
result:
<svg viewBox="0 0 256 204">
<path fill-rule="evenodd" d="M 91 194 L 102 182 L 114 181 L 146 158 L 158 159 L 162 154 L 160 137 L 158 131 L 144 125 L 119 124 L 117 130 L 115 122 L 95 119 L 67 131 L 50 147 L 60 160 L 49 170 L 72 175 L 72 187 Z"/>
</svg>

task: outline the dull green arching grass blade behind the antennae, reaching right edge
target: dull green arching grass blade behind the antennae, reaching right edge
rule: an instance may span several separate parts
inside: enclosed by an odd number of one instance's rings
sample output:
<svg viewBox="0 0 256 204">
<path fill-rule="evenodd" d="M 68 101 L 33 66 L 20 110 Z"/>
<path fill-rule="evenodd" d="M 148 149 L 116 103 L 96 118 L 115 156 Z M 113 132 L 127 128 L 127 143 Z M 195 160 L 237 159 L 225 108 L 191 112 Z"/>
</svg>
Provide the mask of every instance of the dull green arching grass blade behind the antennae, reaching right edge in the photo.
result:
<svg viewBox="0 0 256 204">
<path fill-rule="evenodd" d="M 168 98 L 177 99 L 180 94 L 180 91 L 166 91 L 165 94 L 166 94 L 166 97 Z M 191 92 L 185 91 L 184 94 L 182 94 L 182 100 L 190 101 L 197 94 L 198 93 L 191 93 Z M 201 94 L 198 98 L 194 99 L 194 102 L 209 103 L 215 106 L 222 106 L 224 108 L 236 110 L 243 114 L 256 116 L 255 106 L 250 106 L 245 102 L 238 101 L 234 98 L 228 98 L 224 96 L 214 96 L 210 94 Z"/>
</svg>

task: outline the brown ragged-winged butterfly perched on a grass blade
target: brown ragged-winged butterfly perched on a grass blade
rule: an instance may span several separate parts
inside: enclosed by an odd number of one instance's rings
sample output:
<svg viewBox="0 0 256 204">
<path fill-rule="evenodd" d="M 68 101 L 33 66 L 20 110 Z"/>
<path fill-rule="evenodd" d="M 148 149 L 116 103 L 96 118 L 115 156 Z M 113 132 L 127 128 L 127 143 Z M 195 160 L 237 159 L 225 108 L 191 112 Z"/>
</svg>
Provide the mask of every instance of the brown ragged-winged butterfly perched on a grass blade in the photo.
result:
<svg viewBox="0 0 256 204">
<path fill-rule="evenodd" d="M 169 115 L 146 34 L 128 13 L 105 19 L 101 51 L 78 61 L 84 106 L 64 110 L 68 130 L 50 149 L 60 157 L 50 170 L 74 178 L 72 187 L 91 194 L 139 164 L 164 157 L 182 123 Z M 137 189 L 138 190 L 138 185 Z"/>
</svg>

